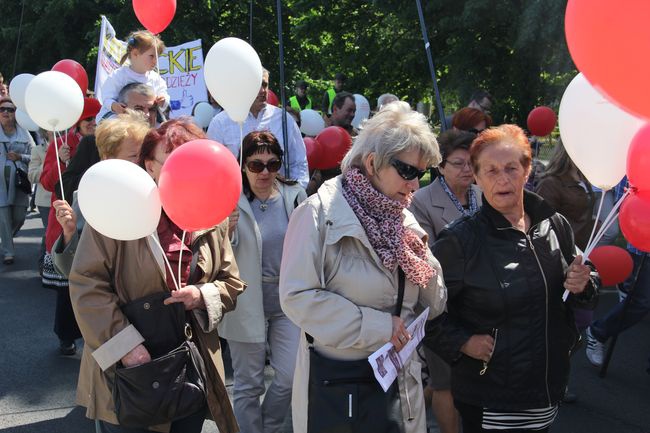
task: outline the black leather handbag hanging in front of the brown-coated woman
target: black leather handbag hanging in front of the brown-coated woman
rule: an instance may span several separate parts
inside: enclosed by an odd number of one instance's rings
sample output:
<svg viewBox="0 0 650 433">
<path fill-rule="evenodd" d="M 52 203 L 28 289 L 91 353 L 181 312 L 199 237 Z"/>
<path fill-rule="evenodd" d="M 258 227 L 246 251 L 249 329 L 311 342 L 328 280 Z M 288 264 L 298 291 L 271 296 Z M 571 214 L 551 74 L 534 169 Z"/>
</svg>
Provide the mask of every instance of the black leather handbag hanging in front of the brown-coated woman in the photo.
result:
<svg viewBox="0 0 650 433">
<path fill-rule="evenodd" d="M 146 364 L 115 369 L 113 402 L 122 426 L 165 424 L 206 405 L 205 365 L 191 341 L 188 313 L 182 303 L 164 305 L 169 296 L 155 293 L 122 307 L 152 357 Z"/>
</svg>

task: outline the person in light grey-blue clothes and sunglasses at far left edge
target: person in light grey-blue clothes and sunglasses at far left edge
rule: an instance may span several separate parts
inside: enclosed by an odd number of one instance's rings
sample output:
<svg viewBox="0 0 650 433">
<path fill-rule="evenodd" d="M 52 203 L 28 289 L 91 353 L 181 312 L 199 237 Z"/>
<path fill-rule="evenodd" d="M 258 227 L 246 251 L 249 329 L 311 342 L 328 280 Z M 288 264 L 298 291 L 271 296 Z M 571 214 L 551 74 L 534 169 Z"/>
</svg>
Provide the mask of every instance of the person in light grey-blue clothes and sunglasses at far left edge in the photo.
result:
<svg viewBox="0 0 650 433">
<path fill-rule="evenodd" d="M 29 195 L 16 187 L 16 171 L 27 173 L 34 139 L 16 123 L 16 106 L 7 97 L 0 98 L 0 238 L 3 263 L 14 262 L 13 238 L 25 222 Z"/>
</svg>

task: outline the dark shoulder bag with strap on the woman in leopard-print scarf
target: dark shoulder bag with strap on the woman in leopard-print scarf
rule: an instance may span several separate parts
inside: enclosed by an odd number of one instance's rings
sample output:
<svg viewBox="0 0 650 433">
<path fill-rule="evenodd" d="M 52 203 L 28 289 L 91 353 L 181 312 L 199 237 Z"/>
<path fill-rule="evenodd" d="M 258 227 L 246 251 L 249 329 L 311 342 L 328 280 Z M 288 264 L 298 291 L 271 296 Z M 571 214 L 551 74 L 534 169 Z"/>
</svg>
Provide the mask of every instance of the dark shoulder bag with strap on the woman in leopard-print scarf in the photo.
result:
<svg viewBox="0 0 650 433">
<path fill-rule="evenodd" d="M 404 300 L 404 272 L 398 271 L 395 315 Z M 399 433 L 402 412 L 397 382 L 384 392 L 367 359 L 339 361 L 319 355 L 309 342 L 308 433 Z"/>
</svg>

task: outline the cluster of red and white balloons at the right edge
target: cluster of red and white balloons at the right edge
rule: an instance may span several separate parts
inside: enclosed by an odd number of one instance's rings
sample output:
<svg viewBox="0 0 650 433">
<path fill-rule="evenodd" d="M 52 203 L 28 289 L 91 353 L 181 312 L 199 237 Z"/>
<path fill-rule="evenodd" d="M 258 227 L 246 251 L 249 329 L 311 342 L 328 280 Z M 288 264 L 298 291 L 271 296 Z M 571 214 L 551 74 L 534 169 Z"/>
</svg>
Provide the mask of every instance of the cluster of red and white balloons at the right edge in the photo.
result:
<svg viewBox="0 0 650 433">
<path fill-rule="evenodd" d="M 585 255 L 617 217 L 636 248 L 650 251 L 650 2 L 569 0 L 565 34 L 580 73 L 560 104 L 560 135 L 589 181 L 610 189 L 625 175 L 630 188 Z"/>
</svg>

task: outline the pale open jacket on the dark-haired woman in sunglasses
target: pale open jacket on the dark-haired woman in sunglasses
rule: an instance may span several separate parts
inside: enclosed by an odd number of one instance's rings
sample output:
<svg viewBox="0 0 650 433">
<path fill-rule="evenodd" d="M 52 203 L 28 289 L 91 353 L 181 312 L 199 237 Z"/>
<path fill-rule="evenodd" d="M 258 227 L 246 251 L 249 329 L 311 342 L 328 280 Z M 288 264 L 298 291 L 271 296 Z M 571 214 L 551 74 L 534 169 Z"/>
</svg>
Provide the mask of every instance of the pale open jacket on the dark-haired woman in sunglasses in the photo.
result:
<svg viewBox="0 0 650 433">
<path fill-rule="evenodd" d="M 307 198 L 300 185 L 277 183 L 287 215 L 296 203 Z M 266 320 L 262 299 L 262 234 L 255 221 L 248 197 L 242 193 L 237 204 L 239 222 L 232 236 L 240 277 L 246 281 L 246 291 L 237 298 L 237 308 L 224 315 L 219 335 L 226 340 L 243 343 L 266 342 Z"/>
</svg>

